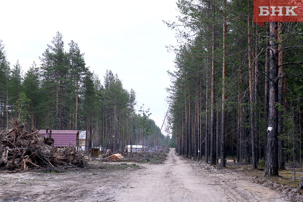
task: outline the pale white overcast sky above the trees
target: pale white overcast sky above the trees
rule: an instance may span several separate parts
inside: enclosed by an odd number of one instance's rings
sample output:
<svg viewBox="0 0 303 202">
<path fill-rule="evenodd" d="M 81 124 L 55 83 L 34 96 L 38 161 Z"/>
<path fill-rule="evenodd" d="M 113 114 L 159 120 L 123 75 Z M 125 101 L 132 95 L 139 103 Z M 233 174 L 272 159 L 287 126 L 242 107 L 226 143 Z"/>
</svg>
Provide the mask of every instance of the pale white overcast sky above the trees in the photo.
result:
<svg viewBox="0 0 303 202">
<path fill-rule="evenodd" d="M 33 62 L 40 64 L 59 31 L 65 51 L 74 40 L 102 83 L 106 69 L 117 73 L 124 88 L 135 90 L 137 109 L 150 108 L 161 127 L 168 107 L 166 71 L 175 58 L 165 46 L 176 43 L 162 20 L 176 21 L 176 8 L 176 0 L 5 0 L 0 40 L 10 66 L 19 60 L 25 73 Z"/>
</svg>

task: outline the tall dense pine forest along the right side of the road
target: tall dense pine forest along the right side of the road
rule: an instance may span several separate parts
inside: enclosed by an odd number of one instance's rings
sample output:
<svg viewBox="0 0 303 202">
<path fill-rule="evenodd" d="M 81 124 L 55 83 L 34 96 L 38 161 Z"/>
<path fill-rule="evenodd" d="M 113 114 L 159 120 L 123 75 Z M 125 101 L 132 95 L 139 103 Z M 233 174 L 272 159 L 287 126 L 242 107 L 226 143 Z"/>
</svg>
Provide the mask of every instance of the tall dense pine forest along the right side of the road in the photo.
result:
<svg viewBox="0 0 303 202">
<path fill-rule="evenodd" d="M 253 22 L 252 0 L 178 0 L 169 125 L 177 152 L 302 169 L 303 24 Z"/>
</svg>

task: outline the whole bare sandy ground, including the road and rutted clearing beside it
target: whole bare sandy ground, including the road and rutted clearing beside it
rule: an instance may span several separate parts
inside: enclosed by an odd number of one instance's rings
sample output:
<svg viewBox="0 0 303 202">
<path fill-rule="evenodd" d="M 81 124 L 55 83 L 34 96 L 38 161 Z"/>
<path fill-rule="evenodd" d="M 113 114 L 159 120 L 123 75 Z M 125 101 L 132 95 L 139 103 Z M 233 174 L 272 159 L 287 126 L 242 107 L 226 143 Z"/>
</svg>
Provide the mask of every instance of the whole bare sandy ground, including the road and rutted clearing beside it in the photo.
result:
<svg viewBox="0 0 303 202">
<path fill-rule="evenodd" d="M 125 165 L 126 164 L 126 165 Z M 162 163 L 91 161 L 58 171 L 0 171 L 1 202 L 284 202 L 303 201 L 295 187 L 243 167 L 225 169 L 178 156 Z M 263 171 L 264 173 L 264 171 Z M 282 177 L 280 177 L 282 178 Z"/>
</svg>

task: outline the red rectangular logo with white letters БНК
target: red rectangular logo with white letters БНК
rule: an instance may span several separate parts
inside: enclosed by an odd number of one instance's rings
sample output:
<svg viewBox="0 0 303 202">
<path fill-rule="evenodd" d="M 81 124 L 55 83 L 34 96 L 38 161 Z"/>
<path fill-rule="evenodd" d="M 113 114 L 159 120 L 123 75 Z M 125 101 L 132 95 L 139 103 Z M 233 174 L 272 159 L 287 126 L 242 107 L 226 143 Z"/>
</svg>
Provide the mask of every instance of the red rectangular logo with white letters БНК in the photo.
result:
<svg viewBox="0 0 303 202">
<path fill-rule="evenodd" d="M 254 0 L 253 21 L 303 22 L 303 0 Z"/>
</svg>

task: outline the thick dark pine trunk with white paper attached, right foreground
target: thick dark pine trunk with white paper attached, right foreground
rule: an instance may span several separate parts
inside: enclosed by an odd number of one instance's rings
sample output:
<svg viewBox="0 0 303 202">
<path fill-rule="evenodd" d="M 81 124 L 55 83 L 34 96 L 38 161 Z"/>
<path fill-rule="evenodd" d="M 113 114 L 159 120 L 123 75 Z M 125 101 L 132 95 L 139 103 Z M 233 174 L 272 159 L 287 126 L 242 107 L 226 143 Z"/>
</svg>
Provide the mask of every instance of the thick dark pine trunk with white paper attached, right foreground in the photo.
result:
<svg viewBox="0 0 303 202">
<path fill-rule="evenodd" d="M 269 114 L 268 114 L 268 131 L 267 131 L 267 154 L 265 176 L 278 176 L 278 23 L 270 22 L 269 43 Z"/>
</svg>

